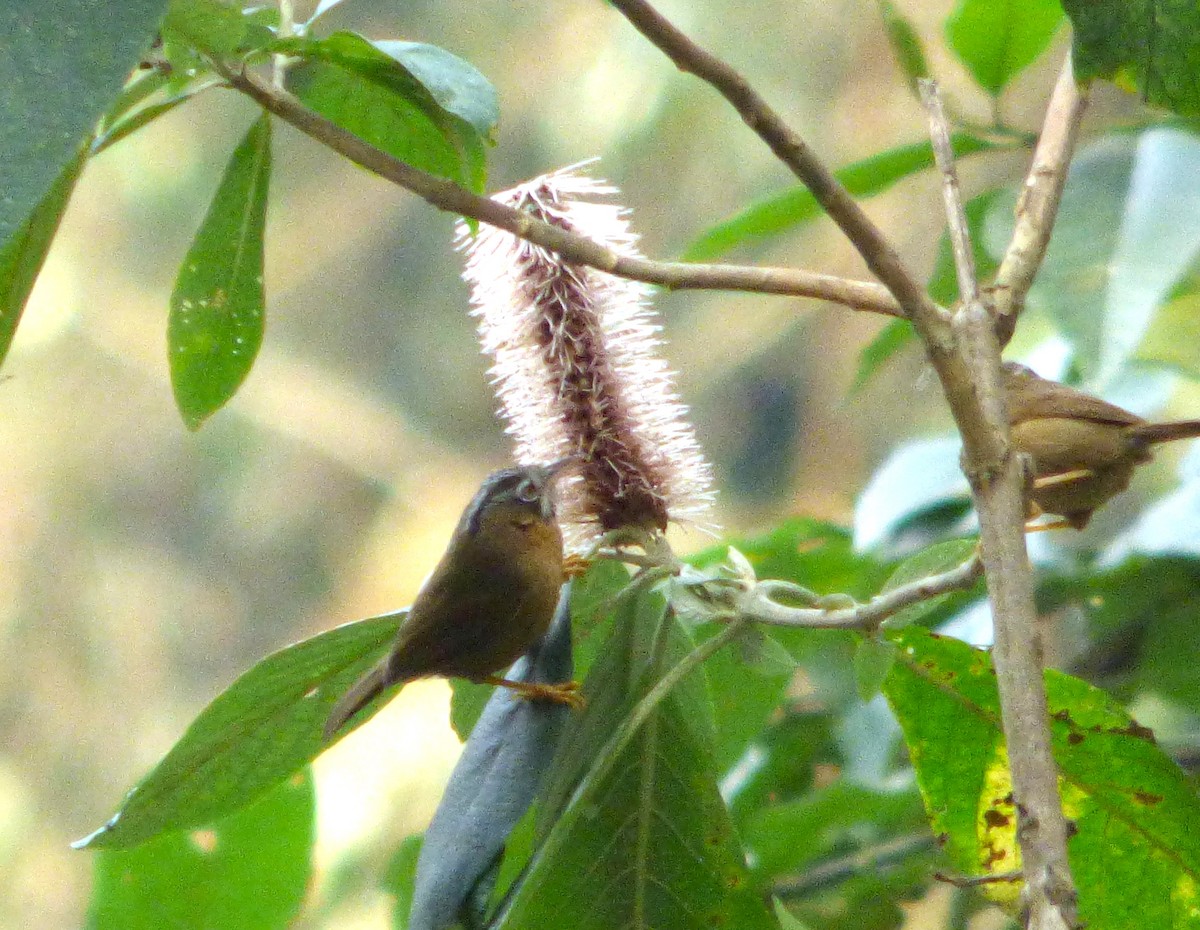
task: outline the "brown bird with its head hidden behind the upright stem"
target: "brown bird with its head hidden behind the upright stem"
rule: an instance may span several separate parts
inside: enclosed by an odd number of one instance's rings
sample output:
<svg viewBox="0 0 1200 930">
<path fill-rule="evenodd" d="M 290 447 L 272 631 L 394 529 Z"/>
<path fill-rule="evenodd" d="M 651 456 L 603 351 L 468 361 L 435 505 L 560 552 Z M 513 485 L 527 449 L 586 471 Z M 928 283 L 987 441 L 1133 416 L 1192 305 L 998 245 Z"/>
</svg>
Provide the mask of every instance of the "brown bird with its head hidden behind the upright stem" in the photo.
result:
<svg viewBox="0 0 1200 930">
<path fill-rule="evenodd" d="M 1200 420 L 1151 424 L 1115 404 L 1003 365 L 1013 444 L 1033 460 L 1030 516 L 1061 521 L 1031 529 L 1082 529 L 1097 508 L 1129 486 L 1151 446 L 1200 436 Z"/>
</svg>

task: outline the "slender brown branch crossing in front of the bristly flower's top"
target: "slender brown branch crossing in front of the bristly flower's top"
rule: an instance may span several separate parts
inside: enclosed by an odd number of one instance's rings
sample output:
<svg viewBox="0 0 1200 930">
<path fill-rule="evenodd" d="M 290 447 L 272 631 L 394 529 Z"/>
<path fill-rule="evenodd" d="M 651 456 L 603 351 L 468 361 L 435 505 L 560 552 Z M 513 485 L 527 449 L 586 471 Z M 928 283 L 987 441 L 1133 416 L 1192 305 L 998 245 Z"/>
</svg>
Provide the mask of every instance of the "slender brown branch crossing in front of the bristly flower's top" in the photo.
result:
<svg viewBox="0 0 1200 930">
<path fill-rule="evenodd" d="M 454 181 L 406 164 L 343 130 L 336 122 L 313 113 L 287 91 L 272 86 L 253 73 L 235 72 L 221 66 L 217 68 L 232 88 L 355 164 L 415 193 L 439 210 L 499 227 L 521 239 L 551 248 L 570 262 L 672 290 L 782 294 L 828 300 L 889 317 L 902 316 L 900 305 L 887 288 L 869 281 L 851 281 L 799 269 L 654 262 L 620 254 L 590 239 L 534 220 L 521 210 L 474 194 Z"/>
</svg>

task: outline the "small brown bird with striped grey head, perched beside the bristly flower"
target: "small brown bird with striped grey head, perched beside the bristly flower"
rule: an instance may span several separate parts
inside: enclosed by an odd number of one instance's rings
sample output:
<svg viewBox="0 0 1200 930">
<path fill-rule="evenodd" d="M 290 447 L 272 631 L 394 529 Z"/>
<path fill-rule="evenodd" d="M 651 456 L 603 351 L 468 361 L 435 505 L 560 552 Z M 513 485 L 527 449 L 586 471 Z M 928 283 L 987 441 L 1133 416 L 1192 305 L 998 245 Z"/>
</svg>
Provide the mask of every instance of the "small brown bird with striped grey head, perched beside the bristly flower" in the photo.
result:
<svg viewBox="0 0 1200 930">
<path fill-rule="evenodd" d="M 582 704 L 577 682 L 535 684 L 496 676 L 536 643 L 553 618 L 565 580 L 554 479 L 574 461 L 503 468 L 484 480 L 391 650 L 335 704 L 326 740 L 388 688 L 432 676 Z"/>
</svg>

